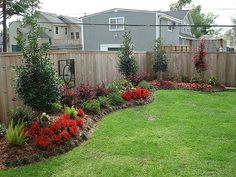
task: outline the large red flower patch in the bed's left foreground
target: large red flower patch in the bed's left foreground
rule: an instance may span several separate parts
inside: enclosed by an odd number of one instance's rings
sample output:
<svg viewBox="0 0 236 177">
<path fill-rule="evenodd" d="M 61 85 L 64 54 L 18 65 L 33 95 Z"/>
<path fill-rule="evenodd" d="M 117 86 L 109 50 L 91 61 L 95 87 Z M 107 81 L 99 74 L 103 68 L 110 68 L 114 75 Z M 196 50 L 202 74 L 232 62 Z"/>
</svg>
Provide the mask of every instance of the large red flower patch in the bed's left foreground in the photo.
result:
<svg viewBox="0 0 236 177">
<path fill-rule="evenodd" d="M 77 117 L 71 119 L 70 114 L 62 114 L 60 117 L 50 122 L 48 127 L 42 126 L 39 122 L 32 122 L 31 125 L 25 129 L 26 136 L 32 140 L 36 146 L 43 149 L 50 145 L 64 143 L 72 138 L 77 138 L 80 128 L 84 127 L 83 117 L 84 111 L 78 109 Z"/>
</svg>

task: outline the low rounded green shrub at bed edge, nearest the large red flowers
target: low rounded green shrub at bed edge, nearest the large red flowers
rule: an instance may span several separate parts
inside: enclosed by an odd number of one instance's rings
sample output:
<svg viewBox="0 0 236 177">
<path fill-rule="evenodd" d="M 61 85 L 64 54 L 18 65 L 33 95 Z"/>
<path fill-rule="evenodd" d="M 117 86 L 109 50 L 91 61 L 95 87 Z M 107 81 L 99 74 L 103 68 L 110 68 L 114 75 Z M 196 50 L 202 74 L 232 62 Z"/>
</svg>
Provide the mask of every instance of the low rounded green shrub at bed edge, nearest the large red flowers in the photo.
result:
<svg viewBox="0 0 236 177">
<path fill-rule="evenodd" d="M 88 100 L 81 104 L 85 112 L 98 114 L 100 112 L 100 102 L 98 100 Z"/>
</svg>

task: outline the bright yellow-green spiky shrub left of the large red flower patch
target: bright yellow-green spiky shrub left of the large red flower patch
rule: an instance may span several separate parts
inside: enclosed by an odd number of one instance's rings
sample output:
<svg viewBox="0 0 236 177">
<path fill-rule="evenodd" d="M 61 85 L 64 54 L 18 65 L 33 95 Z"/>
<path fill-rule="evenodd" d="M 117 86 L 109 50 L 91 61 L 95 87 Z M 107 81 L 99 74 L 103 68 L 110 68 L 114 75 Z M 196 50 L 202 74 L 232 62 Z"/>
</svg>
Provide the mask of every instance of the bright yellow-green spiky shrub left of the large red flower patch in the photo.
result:
<svg viewBox="0 0 236 177">
<path fill-rule="evenodd" d="M 26 141 L 24 126 L 25 124 L 20 122 L 13 126 L 13 121 L 11 121 L 6 130 L 6 140 L 13 145 L 22 145 Z"/>
</svg>

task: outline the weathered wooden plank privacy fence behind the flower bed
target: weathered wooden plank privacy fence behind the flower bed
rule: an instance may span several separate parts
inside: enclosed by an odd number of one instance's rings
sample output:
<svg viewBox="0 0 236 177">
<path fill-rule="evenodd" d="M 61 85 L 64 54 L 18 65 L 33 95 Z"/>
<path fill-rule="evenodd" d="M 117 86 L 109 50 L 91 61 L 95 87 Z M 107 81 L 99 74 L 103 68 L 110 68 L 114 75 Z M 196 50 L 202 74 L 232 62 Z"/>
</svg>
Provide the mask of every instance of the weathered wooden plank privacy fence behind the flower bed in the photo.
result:
<svg viewBox="0 0 236 177">
<path fill-rule="evenodd" d="M 97 84 L 109 83 L 121 79 L 117 69 L 116 52 L 52 52 L 50 58 L 58 69 L 58 61 L 75 59 L 75 83 Z M 191 52 L 168 52 L 168 78 L 181 80 L 183 76 L 191 78 L 196 72 L 192 62 Z M 14 66 L 21 62 L 20 54 L 0 54 L 0 122 L 7 122 L 7 112 L 21 103 L 16 99 L 14 91 Z M 149 52 L 137 52 L 139 70 L 146 71 L 151 76 L 153 57 Z M 236 86 L 236 54 L 235 53 L 208 53 L 206 56 L 208 70 L 206 78 L 217 77 L 227 86 Z"/>
</svg>

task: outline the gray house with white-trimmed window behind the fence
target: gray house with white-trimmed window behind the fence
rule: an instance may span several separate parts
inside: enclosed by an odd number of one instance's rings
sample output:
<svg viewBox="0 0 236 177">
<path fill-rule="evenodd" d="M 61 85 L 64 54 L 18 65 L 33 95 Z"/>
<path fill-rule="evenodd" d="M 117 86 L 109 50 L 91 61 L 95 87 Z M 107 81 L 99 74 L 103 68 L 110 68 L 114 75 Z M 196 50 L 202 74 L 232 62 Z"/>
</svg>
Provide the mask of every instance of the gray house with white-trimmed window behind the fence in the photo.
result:
<svg viewBox="0 0 236 177">
<path fill-rule="evenodd" d="M 130 31 L 136 51 L 152 50 L 154 40 L 161 38 L 164 44 L 186 44 L 193 38 L 188 11 L 161 12 L 133 9 L 111 9 L 81 18 L 83 50 L 118 50 L 125 30 Z"/>
</svg>

